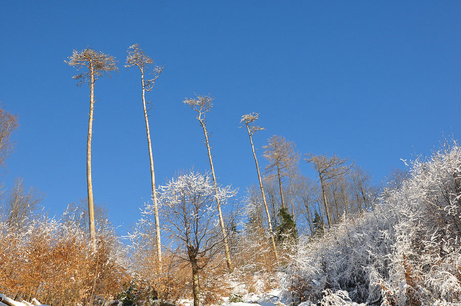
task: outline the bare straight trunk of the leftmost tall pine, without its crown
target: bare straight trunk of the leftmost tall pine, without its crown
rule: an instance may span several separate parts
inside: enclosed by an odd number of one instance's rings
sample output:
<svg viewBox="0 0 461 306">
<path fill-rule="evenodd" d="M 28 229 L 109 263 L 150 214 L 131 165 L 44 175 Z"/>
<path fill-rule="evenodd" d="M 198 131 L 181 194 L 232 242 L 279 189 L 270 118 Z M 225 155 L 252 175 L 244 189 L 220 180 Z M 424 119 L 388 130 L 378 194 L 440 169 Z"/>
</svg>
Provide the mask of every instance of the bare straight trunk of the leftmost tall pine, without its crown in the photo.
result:
<svg viewBox="0 0 461 306">
<path fill-rule="evenodd" d="M 96 231 L 94 228 L 93 183 L 91 181 L 91 136 L 93 134 L 93 109 L 94 109 L 94 65 L 90 60 L 90 118 L 88 120 L 87 138 L 87 189 L 88 189 L 88 216 L 90 225 L 90 240 L 93 250 L 96 249 Z"/>
</svg>

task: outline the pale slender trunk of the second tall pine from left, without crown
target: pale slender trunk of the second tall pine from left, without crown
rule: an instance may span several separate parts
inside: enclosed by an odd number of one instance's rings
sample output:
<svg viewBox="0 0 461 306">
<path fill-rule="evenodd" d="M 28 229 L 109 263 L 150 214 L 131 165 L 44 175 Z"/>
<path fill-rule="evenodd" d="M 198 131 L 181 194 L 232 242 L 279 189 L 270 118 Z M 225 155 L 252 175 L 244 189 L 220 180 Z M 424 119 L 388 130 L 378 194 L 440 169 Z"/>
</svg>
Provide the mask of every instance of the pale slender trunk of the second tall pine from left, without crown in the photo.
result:
<svg viewBox="0 0 461 306">
<path fill-rule="evenodd" d="M 142 107 L 144 109 L 145 133 L 147 134 L 147 140 L 148 140 L 148 146 L 149 146 L 149 160 L 151 163 L 152 201 L 154 202 L 157 259 L 158 259 L 159 271 L 161 271 L 162 270 L 162 248 L 161 248 L 161 241 L 160 241 L 160 222 L 158 218 L 157 189 L 155 188 L 154 158 L 152 156 L 151 133 L 149 130 L 149 120 L 148 120 L 149 116 L 147 114 L 147 109 L 145 107 L 144 71 L 142 70 L 142 68 L 140 68 L 140 70 L 141 70 Z"/>
</svg>

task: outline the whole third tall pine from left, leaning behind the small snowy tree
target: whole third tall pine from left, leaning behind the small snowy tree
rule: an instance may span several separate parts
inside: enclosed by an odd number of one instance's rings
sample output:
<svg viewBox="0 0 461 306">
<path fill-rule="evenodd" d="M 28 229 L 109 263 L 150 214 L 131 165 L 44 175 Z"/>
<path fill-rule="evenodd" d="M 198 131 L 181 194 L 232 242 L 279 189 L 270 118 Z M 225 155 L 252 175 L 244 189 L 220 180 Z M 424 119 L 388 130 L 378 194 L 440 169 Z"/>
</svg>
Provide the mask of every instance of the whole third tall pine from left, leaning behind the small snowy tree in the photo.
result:
<svg viewBox="0 0 461 306">
<path fill-rule="evenodd" d="M 211 154 L 211 146 L 209 145 L 209 133 L 208 130 L 206 129 L 206 120 L 205 116 L 206 113 L 211 111 L 211 108 L 213 106 L 213 98 L 210 96 L 197 96 L 196 99 L 185 99 L 184 103 L 189 105 L 192 110 L 194 110 L 197 113 L 197 120 L 200 123 L 200 126 L 203 129 L 203 134 L 205 136 L 205 141 L 204 143 L 206 144 L 206 149 L 207 149 L 207 155 L 208 155 L 208 161 L 209 161 L 209 166 L 212 171 L 213 175 L 213 184 L 215 186 L 216 190 L 216 204 L 218 205 L 218 213 L 219 213 L 219 222 L 221 224 L 221 231 L 222 235 L 224 238 L 224 251 L 226 254 L 226 263 L 227 263 L 227 268 L 229 271 L 232 271 L 232 261 L 231 261 L 231 251 L 229 250 L 229 245 L 227 243 L 227 235 L 226 235 L 226 229 L 224 227 L 224 219 L 222 217 L 222 212 L 221 212 L 221 204 L 218 196 L 218 182 L 216 181 L 216 175 L 215 175 L 215 168 L 213 166 L 213 157 Z"/>
</svg>

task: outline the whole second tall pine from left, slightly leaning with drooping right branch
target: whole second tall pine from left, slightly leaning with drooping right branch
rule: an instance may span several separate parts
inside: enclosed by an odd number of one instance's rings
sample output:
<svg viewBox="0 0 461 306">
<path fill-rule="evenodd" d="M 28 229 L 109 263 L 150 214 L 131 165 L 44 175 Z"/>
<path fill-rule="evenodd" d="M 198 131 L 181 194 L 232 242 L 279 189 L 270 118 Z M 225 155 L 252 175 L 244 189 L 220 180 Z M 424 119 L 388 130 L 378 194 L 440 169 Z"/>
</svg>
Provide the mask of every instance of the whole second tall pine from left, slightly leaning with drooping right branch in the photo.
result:
<svg viewBox="0 0 461 306">
<path fill-rule="evenodd" d="M 149 66 L 154 63 L 152 58 L 145 55 L 142 49 L 139 49 L 139 45 L 135 45 L 128 48 L 127 62 L 125 67 L 136 66 L 141 73 L 141 98 L 142 98 L 142 107 L 144 111 L 144 121 L 145 121 L 145 133 L 147 135 L 148 147 L 149 147 L 149 161 L 151 165 L 151 183 L 152 183 L 152 201 L 154 203 L 154 214 L 155 214 L 155 233 L 156 233 L 156 243 L 157 243 L 157 257 L 159 266 L 161 269 L 162 266 L 162 249 L 160 241 L 160 224 L 158 217 L 158 205 L 157 205 L 157 189 L 155 187 L 155 174 L 154 174 L 154 158 L 152 156 L 152 143 L 151 143 L 151 133 L 149 130 L 149 115 L 148 112 L 151 110 L 152 106 L 149 109 L 146 107 L 146 104 L 151 105 L 152 101 L 145 101 L 145 92 L 150 92 L 155 85 L 155 81 L 160 76 L 160 73 L 163 71 L 163 67 L 154 66 L 152 69 L 152 78 L 144 80 L 144 73 L 148 71 Z"/>
</svg>

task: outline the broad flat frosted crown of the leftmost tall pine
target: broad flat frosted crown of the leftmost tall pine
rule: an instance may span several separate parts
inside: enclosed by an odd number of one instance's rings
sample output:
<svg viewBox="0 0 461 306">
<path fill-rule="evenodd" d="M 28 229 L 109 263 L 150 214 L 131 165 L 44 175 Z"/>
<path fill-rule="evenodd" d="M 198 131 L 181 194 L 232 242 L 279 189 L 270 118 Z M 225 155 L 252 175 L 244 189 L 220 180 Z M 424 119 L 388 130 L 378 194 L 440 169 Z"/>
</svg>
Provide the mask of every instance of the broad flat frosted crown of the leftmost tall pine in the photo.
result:
<svg viewBox="0 0 461 306">
<path fill-rule="evenodd" d="M 68 60 L 65 60 L 67 64 L 75 66 L 77 71 L 80 70 L 83 66 L 89 69 L 88 72 L 79 73 L 74 75 L 72 78 L 79 80 L 77 85 L 82 84 L 85 81 L 90 79 L 90 70 L 91 67 L 94 70 L 96 76 L 101 76 L 108 74 L 110 76 L 111 71 L 117 71 L 117 61 L 115 57 L 104 54 L 101 51 L 96 52 L 93 49 L 83 49 L 81 51 L 74 50 L 72 55 L 69 56 Z"/>
</svg>

